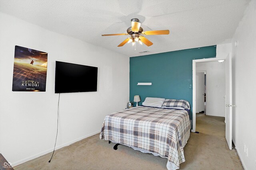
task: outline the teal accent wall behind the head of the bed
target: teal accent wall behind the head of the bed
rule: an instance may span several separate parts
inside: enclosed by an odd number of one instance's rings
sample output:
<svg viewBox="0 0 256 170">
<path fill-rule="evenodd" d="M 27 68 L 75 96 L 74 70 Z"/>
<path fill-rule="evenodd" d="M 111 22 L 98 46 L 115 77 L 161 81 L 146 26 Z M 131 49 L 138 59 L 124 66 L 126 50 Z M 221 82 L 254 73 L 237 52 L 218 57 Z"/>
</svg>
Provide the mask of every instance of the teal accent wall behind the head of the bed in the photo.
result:
<svg viewBox="0 0 256 170">
<path fill-rule="evenodd" d="M 140 106 L 146 97 L 187 100 L 192 119 L 192 60 L 212 57 L 216 57 L 216 45 L 130 57 L 130 101 L 135 95 L 140 96 Z M 137 86 L 138 82 L 152 85 Z"/>
</svg>

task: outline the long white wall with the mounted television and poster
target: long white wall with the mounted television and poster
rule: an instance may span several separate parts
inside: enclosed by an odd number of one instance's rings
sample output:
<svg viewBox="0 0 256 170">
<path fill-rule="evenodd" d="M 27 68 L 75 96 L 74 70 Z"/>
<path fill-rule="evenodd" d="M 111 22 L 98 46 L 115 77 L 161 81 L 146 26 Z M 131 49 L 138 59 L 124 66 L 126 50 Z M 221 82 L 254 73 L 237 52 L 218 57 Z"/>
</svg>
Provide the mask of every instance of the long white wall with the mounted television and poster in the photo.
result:
<svg viewBox="0 0 256 170">
<path fill-rule="evenodd" d="M 46 92 L 12 92 L 15 45 L 48 53 Z M 129 100 L 129 57 L 0 13 L 0 153 L 13 166 L 53 150 L 55 61 L 98 67 L 98 92 L 60 94 L 57 149 L 100 132 Z"/>
</svg>

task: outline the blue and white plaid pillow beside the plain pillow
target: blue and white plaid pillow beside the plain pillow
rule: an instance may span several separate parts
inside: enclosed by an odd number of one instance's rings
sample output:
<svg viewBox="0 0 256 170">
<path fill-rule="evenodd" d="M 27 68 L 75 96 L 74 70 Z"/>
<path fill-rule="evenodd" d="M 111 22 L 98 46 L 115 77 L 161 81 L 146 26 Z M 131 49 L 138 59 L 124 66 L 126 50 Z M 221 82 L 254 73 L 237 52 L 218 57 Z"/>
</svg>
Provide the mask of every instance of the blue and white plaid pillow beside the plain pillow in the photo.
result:
<svg viewBox="0 0 256 170">
<path fill-rule="evenodd" d="M 190 109 L 190 104 L 186 100 L 175 100 L 175 99 L 166 99 L 162 108 L 168 109 Z"/>
</svg>

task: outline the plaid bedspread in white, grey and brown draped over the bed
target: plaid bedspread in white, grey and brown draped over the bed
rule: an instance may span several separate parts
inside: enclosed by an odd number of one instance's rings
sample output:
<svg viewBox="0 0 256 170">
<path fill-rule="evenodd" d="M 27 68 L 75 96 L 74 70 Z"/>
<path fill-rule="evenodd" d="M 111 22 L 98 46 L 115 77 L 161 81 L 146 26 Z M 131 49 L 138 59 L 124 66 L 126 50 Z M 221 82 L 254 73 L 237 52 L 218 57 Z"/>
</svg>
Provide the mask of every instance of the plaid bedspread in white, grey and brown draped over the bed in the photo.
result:
<svg viewBox="0 0 256 170">
<path fill-rule="evenodd" d="M 180 167 L 190 137 L 188 111 L 137 106 L 107 115 L 100 139 L 147 150 Z"/>
</svg>

